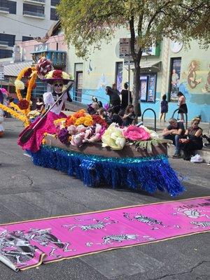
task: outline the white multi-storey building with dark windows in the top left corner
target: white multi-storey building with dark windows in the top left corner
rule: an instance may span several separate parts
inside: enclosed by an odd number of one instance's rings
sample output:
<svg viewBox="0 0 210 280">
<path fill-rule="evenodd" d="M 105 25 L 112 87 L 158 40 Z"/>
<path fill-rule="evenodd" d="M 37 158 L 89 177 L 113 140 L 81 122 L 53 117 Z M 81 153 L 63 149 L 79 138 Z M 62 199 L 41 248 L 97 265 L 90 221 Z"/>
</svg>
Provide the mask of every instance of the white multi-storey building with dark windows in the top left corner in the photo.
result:
<svg viewBox="0 0 210 280">
<path fill-rule="evenodd" d="M 13 56 L 13 45 L 41 39 L 57 20 L 59 0 L 0 0 L 0 59 Z"/>
</svg>

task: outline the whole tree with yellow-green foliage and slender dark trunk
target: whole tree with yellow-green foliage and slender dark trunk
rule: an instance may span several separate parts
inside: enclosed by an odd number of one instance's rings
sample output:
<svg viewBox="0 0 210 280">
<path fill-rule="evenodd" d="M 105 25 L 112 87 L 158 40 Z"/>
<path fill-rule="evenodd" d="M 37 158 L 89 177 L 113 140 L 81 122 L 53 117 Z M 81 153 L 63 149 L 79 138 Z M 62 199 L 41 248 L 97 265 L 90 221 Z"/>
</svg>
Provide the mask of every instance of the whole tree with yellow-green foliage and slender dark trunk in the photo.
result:
<svg viewBox="0 0 210 280">
<path fill-rule="evenodd" d="M 61 0 L 57 6 L 66 42 L 79 57 L 87 57 L 102 40 L 111 41 L 116 29 L 130 30 L 134 59 L 134 98 L 139 111 L 140 61 L 143 50 L 164 37 L 190 46 L 196 39 L 202 47 L 210 43 L 209 0 Z M 134 48 L 135 41 L 138 48 Z"/>
</svg>

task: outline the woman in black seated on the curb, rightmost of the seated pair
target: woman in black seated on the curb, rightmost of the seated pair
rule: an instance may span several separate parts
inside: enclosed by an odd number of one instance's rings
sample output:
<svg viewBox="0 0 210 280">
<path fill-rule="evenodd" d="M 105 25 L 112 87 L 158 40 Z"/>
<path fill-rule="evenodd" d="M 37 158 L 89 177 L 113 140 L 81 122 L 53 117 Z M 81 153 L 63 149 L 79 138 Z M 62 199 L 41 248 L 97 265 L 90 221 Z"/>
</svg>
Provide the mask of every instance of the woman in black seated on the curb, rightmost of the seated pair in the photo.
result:
<svg viewBox="0 0 210 280">
<path fill-rule="evenodd" d="M 180 139 L 181 150 L 183 150 L 183 159 L 190 160 L 192 155 L 195 155 L 195 150 L 201 150 L 203 147 L 202 140 L 202 128 L 198 125 L 200 123 L 199 118 L 193 118 L 191 126 L 186 130 L 184 134 L 185 139 Z"/>
</svg>

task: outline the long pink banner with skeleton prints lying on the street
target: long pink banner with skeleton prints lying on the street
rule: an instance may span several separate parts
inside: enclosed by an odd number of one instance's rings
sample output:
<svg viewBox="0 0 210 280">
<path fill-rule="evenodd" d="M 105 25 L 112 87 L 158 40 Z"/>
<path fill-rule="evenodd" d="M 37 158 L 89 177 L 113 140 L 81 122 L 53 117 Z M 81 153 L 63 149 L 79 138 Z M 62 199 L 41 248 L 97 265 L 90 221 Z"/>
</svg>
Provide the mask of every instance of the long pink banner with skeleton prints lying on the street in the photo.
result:
<svg viewBox="0 0 210 280">
<path fill-rule="evenodd" d="M 1 225 L 0 259 L 27 269 L 209 230 L 210 197 L 45 218 Z"/>
</svg>

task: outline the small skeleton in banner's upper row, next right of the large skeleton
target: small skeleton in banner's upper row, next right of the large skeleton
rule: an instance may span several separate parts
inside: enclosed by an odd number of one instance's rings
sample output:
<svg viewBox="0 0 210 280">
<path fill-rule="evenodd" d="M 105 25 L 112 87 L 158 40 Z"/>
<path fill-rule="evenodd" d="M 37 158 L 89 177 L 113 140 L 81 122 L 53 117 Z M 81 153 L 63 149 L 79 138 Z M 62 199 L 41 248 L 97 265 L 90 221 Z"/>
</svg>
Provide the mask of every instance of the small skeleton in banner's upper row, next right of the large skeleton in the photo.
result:
<svg viewBox="0 0 210 280">
<path fill-rule="evenodd" d="M 85 220 L 80 220 L 80 219 L 76 219 L 78 221 L 85 221 Z M 88 219 L 89 220 L 89 219 Z M 104 220 L 109 220 L 109 217 L 104 218 Z M 87 220 L 86 220 L 87 221 Z M 92 221 L 95 221 L 95 223 L 90 223 L 88 225 L 62 225 L 63 228 L 69 228 L 69 231 L 75 229 L 75 228 L 80 228 L 80 230 L 102 230 L 103 228 L 106 227 L 106 225 L 111 225 L 111 223 L 118 223 L 118 221 L 109 221 L 109 222 L 105 222 L 105 221 L 99 221 L 97 219 L 92 219 Z"/>
</svg>

